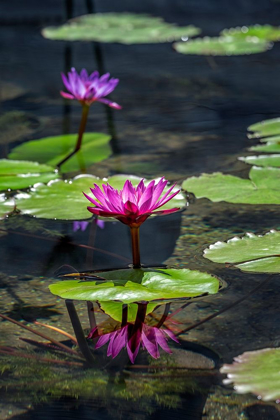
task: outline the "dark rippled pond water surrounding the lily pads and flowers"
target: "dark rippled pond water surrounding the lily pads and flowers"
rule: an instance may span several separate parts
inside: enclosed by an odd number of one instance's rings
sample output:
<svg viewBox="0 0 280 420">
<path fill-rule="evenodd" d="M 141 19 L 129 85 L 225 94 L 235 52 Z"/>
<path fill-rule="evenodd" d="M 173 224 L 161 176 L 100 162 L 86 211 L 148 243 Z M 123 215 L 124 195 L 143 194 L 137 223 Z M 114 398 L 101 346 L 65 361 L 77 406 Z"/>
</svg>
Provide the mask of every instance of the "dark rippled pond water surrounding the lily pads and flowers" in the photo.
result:
<svg viewBox="0 0 280 420">
<path fill-rule="evenodd" d="M 82 0 L 28 0 L 24 7 L 17 0 L 0 4 L 1 114 L 22 113 L 21 122 L 12 116 L 8 127 L 0 127 L 0 157 L 23 141 L 75 132 L 80 107 L 60 97 L 60 72 L 72 65 L 77 69 L 102 65 L 120 79 L 112 97 L 123 109 L 109 115 L 119 153 L 90 167 L 89 173 L 164 175 L 178 183 L 215 171 L 246 178 L 249 168 L 237 157 L 253 144 L 246 137 L 247 127 L 280 113 L 279 44 L 263 54 L 211 60 L 177 54 L 169 44 L 99 44 L 97 61 L 96 44 L 54 42 L 41 36 L 45 25 L 64 22 L 67 13 L 87 13 L 89 6 L 92 3 Z M 137 4 L 103 0 L 95 6 L 99 12 L 147 12 L 169 22 L 194 24 L 204 35 L 237 25 L 278 24 L 280 18 L 276 0 Z M 107 117 L 104 107 L 95 104 L 87 130 L 112 131 Z M 202 257 L 203 249 L 218 240 L 279 226 L 277 206 L 208 200 L 192 201 L 182 213 L 145 222 L 141 227 L 144 264 L 207 271 L 227 283 L 217 295 L 200 298 L 178 312 L 175 331 L 226 308 L 266 277 L 209 263 Z M 74 232 L 72 222 L 13 216 L 0 221 L 0 260 L 0 312 L 25 324 L 37 319 L 72 334 L 64 301 L 48 291 L 55 273 L 65 265 L 78 272 L 127 267 L 129 230 L 106 222 L 103 229 L 92 224 Z M 273 403 L 259 404 L 254 396 L 237 395 L 224 387 L 218 368 L 244 351 L 279 346 L 279 294 L 273 278 L 238 306 L 180 334 L 180 345 L 170 344 L 172 356 L 151 361 L 139 353 L 134 368 L 124 354 L 112 362 L 102 350 L 91 369 L 70 356 L 69 364 L 42 363 L 39 358 L 52 357 L 51 353 L 22 341 L 36 338 L 3 321 L 1 346 L 18 348 L 30 358 L 2 355 L 0 372 L 7 388 L 0 390 L 0 418 L 278 419 Z M 170 313 L 185 303 L 176 301 Z M 77 311 L 83 328 L 88 328 L 86 306 L 78 304 Z M 153 314 L 157 320 L 161 315 L 161 308 Z M 105 318 L 97 310 L 97 323 Z M 44 327 L 40 331 L 57 340 L 61 337 Z M 63 338 L 66 345 L 71 344 Z"/>
</svg>

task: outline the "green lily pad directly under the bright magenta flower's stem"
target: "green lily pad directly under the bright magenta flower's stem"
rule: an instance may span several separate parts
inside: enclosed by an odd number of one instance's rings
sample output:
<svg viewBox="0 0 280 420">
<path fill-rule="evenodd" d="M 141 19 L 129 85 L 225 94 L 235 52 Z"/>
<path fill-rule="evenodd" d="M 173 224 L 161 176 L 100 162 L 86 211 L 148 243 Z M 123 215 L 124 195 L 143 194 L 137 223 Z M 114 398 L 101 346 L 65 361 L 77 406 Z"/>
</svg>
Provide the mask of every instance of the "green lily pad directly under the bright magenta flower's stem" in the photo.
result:
<svg viewBox="0 0 280 420">
<path fill-rule="evenodd" d="M 188 269 L 130 269 L 98 273 L 107 281 L 64 280 L 50 291 L 64 299 L 133 303 L 215 294 L 216 277 Z"/>
</svg>

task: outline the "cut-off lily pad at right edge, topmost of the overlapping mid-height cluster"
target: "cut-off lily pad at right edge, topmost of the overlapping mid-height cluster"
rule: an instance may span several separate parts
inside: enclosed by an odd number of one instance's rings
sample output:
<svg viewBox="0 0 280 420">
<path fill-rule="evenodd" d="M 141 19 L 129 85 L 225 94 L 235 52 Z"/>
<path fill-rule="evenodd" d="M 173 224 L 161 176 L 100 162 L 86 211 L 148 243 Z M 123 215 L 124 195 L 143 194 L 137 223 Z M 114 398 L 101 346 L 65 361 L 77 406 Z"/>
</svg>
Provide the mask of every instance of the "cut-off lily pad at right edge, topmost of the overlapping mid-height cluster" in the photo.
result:
<svg viewBox="0 0 280 420">
<path fill-rule="evenodd" d="M 251 133 L 248 136 L 249 138 L 266 137 L 261 141 L 280 143 L 280 118 L 272 118 L 252 124 L 248 127 L 248 131 Z M 277 137 L 273 138 L 274 136 Z"/>
</svg>

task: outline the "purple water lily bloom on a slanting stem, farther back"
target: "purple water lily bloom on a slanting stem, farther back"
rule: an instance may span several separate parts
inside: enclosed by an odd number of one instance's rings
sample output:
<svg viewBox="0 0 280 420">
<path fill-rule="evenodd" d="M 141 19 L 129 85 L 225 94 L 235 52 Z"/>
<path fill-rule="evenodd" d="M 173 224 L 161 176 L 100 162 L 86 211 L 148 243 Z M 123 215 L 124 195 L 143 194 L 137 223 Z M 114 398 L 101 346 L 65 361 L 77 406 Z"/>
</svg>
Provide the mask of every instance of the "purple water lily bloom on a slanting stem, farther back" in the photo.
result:
<svg viewBox="0 0 280 420">
<path fill-rule="evenodd" d="M 82 69 L 79 74 L 74 68 L 68 73 L 68 77 L 61 73 L 63 83 L 68 92 L 60 92 L 64 98 L 77 99 L 83 105 L 91 105 L 93 102 L 102 102 L 111 108 L 121 109 L 116 102 L 106 99 L 119 83 L 119 79 L 110 79 L 110 74 L 99 76 L 98 71 L 91 74 Z"/>
</svg>

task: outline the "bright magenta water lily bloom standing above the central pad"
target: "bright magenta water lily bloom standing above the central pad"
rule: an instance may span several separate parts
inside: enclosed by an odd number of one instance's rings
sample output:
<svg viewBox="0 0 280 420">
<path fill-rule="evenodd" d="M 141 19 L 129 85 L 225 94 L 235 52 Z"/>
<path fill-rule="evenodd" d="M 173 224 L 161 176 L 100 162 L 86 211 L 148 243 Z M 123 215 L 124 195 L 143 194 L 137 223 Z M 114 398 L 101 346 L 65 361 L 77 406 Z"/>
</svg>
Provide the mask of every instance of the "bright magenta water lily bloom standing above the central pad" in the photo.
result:
<svg viewBox="0 0 280 420">
<path fill-rule="evenodd" d="M 172 192 L 175 187 L 173 185 L 163 194 L 167 183 L 163 177 L 158 182 L 153 180 L 145 186 L 142 179 L 137 187 L 133 187 L 131 181 L 127 180 L 120 191 L 109 184 L 103 184 L 103 190 L 94 184 L 94 188 L 91 188 L 94 198 L 85 193 L 84 195 L 94 204 L 94 207 L 88 207 L 91 213 L 114 217 L 130 227 L 139 227 L 151 214 L 169 214 L 180 210 L 179 207 L 174 207 L 156 211 L 180 192 L 180 189 Z"/>
</svg>

